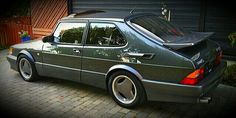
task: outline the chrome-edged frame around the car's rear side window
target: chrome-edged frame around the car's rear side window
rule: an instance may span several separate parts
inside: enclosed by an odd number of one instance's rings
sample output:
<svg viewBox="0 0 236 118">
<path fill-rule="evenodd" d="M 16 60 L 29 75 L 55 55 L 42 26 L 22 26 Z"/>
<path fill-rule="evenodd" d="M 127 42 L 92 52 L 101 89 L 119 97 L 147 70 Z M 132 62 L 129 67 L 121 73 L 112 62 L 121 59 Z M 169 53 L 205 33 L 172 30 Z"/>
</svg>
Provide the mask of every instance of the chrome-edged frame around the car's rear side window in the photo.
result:
<svg viewBox="0 0 236 118">
<path fill-rule="evenodd" d="M 94 45 L 94 44 L 87 44 L 86 41 L 88 40 L 90 34 L 89 34 L 89 31 L 91 30 L 90 29 L 90 26 L 92 23 L 103 23 L 103 24 L 112 24 L 114 25 L 118 31 L 120 32 L 120 34 L 122 35 L 122 38 L 125 40 L 125 44 L 124 45 Z M 120 30 L 120 28 L 114 23 L 114 22 L 108 22 L 108 21 L 89 21 L 88 22 L 88 25 L 87 25 L 87 33 L 86 33 L 86 38 L 83 42 L 84 46 L 86 47 L 104 47 L 104 48 L 113 48 L 113 47 L 124 47 L 128 44 L 128 41 L 127 41 L 127 38 L 125 37 L 125 35 L 123 34 L 123 32 Z"/>
</svg>

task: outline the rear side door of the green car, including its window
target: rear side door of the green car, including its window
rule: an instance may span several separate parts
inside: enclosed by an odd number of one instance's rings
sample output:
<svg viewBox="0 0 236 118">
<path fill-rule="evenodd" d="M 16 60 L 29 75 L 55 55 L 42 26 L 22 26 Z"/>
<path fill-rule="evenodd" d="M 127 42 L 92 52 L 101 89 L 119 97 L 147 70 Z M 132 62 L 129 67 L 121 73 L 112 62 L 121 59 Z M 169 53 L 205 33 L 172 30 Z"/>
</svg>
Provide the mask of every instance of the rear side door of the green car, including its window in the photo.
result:
<svg viewBox="0 0 236 118">
<path fill-rule="evenodd" d="M 111 66 L 120 61 L 120 54 L 126 44 L 114 23 L 89 23 L 83 48 L 81 82 L 104 88 L 105 75 Z"/>
</svg>

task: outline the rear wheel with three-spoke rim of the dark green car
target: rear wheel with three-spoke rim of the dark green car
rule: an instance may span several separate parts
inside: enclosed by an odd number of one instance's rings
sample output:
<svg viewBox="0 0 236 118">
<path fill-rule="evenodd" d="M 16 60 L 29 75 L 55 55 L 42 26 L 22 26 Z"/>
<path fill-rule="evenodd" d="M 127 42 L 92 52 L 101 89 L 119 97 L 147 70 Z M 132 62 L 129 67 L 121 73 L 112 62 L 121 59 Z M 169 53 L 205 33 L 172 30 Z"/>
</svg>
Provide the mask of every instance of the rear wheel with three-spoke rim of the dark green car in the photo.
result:
<svg viewBox="0 0 236 118">
<path fill-rule="evenodd" d="M 127 71 L 117 71 L 109 77 L 108 91 L 113 100 L 125 108 L 134 108 L 146 101 L 141 82 Z"/>
</svg>

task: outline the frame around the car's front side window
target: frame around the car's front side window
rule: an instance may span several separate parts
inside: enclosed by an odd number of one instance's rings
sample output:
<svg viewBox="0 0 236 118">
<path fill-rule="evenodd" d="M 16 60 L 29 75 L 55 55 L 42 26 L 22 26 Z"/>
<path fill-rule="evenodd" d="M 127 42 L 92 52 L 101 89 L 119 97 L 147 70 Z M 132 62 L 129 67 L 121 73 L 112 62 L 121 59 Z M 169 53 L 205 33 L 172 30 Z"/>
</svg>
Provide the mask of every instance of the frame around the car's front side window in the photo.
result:
<svg viewBox="0 0 236 118">
<path fill-rule="evenodd" d="M 66 43 L 66 42 L 56 42 L 56 41 L 54 40 L 54 33 L 56 32 L 58 26 L 59 26 L 61 23 L 85 23 L 85 27 L 84 27 L 84 31 L 83 31 L 83 35 L 82 35 L 81 42 L 78 43 L 78 44 L 75 44 L 75 43 Z M 87 28 L 88 28 L 88 21 L 87 21 L 87 20 L 59 21 L 59 22 L 57 23 L 56 27 L 53 29 L 53 31 L 52 31 L 52 33 L 51 33 L 51 36 L 53 37 L 53 43 L 54 43 L 54 44 L 58 44 L 58 45 L 83 46 L 84 40 L 85 40 L 86 35 L 87 35 Z"/>
</svg>

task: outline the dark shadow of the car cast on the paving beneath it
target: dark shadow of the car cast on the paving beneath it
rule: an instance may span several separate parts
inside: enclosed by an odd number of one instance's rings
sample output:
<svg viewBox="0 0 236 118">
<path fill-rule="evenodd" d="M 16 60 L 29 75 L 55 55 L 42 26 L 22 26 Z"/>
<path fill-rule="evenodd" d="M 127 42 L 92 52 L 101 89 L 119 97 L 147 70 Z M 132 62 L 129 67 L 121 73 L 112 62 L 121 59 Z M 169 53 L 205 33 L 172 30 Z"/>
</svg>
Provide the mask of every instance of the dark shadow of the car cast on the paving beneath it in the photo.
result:
<svg viewBox="0 0 236 118">
<path fill-rule="evenodd" d="M 112 98 L 109 93 L 100 88 L 85 85 L 82 83 L 67 80 L 41 77 L 37 83 L 57 84 L 78 91 L 89 91 L 90 93 L 101 94 L 105 99 Z M 236 88 L 219 85 L 210 94 L 212 101 L 209 104 L 203 103 L 174 103 L 147 101 L 143 105 L 130 109 L 134 113 L 155 114 L 160 117 L 226 117 L 236 111 Z M 115 104 L 115 102 L 113 102 Z"/>
</svg>

